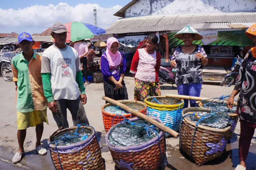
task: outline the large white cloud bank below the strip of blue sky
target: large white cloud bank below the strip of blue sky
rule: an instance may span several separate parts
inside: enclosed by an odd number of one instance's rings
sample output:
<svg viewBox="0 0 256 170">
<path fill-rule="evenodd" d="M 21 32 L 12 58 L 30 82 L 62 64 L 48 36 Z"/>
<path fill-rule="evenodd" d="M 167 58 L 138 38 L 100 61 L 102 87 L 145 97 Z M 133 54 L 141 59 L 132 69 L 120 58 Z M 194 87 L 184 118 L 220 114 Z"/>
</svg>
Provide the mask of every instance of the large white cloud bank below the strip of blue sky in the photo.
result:
<svg viewBox="0 0 256 170">
<path fill-rule="evenodd" d="M 110 8 L 100 7 L 98 4 L 78 4 L 75 7 L 67 3 L 59 3 L 54 6 L 34 5 L 24 9 L 1 9 L 0 8 L 0 33 L 41 33 L 52 26 L 56 21 L 62 23 L 79 21 L 93 24 L 93 8 L 97 9 L 98 26 L 106 29 L 118 17 L 113 16 L 115 12 L 122 8 L 116 5 Z"/>
</svg>

